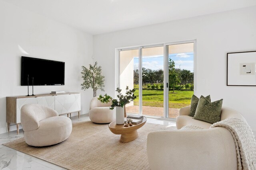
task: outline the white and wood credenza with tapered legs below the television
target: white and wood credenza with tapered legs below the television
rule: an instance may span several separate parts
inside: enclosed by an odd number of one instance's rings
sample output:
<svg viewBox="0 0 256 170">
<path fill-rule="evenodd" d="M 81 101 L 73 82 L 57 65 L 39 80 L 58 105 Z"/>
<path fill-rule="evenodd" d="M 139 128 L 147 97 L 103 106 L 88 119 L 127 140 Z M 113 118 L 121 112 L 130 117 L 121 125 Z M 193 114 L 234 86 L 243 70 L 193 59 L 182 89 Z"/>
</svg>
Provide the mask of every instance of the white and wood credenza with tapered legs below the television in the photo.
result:
<svg viewBox="0 0 256 170">
<path fill-rule="evenodd" d="M 10 130 L 10 123 L 16 123 L 17 134 L 19 134 L 20 109 L 25 104 L 40 104 L 48 106 L 56 110 L 59 115 L 70 114 L 70 117 L 71 113 L 78 112 L 78 117 L 80 118 L 80 93 L 6 97 L 6 122 L 8 125 L 8 132 Z"/>
</svg>

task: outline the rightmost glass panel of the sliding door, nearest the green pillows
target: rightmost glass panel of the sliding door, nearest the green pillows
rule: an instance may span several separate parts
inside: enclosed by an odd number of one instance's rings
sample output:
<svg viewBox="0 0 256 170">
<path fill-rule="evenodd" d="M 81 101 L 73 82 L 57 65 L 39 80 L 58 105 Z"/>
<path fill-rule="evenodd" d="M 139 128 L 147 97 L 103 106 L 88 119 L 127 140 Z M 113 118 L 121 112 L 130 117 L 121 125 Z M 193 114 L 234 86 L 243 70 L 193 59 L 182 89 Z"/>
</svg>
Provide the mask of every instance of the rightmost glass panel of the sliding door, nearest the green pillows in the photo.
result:
<svg viewBox="0 0 256 170">
<path fill-rule="evenodd" d="M 168 56 L 168 113 L 176 118 L 181 107 L 190 106 L 194 94 L 194 42 L 166 45 Z"/>
</svg>

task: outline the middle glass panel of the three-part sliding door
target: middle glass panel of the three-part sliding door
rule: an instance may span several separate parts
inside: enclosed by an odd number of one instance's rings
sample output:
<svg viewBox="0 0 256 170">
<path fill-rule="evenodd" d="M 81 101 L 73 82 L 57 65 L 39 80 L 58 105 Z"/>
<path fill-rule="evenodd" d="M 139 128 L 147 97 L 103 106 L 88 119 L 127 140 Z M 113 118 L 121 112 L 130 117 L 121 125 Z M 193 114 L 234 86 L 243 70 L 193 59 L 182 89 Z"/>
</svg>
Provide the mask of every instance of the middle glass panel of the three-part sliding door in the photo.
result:
<svg viewBox="0 0 256 170">
<path fill-rule="evenodd" d="M 142 114 L 164 116 L 164 46 L 144 47 L 142 58 Z"/>
</svg>

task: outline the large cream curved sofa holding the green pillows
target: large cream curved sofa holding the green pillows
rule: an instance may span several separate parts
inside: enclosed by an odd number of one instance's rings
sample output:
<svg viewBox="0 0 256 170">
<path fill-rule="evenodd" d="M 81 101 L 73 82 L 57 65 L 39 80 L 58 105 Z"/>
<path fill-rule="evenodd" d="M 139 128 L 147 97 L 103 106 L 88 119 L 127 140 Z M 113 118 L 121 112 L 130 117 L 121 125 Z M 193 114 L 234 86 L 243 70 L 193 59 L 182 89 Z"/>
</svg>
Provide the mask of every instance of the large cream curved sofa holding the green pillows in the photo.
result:
<svg viewBox="0 0 256 170">
<path fill-rule="evenodd" d="M 209 127 L 207 122 L 188 116 L 190 107 L 180 109 L 177 129 L 185 125 L 200 130 L 157 131 L 148 134 L 148 162 L 152 170 L 236 170 L 238 161 L 231 133 L 224 127 Z M 222 107 L 221 120 L 244 117 L 236 110 Z"/>
</svg>

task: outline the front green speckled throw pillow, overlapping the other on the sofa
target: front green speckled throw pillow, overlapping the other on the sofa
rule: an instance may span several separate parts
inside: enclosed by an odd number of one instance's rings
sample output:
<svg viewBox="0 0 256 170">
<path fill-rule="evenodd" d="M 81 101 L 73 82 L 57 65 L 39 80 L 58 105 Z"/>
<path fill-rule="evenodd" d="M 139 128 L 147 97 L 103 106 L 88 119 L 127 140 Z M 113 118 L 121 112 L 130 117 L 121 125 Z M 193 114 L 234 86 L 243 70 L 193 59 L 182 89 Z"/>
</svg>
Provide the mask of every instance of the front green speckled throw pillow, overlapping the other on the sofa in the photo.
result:
<svg viewBox="0 0 256 170">
<path fill-rule="evenodd" d="M 206 121 L 212 124 L 220 121 L 222 100 L 223 99 L 209 102 L 205 97 L 200 98 L 193 119 Z"/>
</svg>

